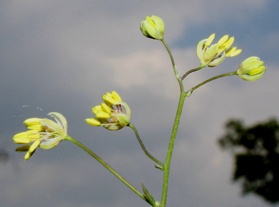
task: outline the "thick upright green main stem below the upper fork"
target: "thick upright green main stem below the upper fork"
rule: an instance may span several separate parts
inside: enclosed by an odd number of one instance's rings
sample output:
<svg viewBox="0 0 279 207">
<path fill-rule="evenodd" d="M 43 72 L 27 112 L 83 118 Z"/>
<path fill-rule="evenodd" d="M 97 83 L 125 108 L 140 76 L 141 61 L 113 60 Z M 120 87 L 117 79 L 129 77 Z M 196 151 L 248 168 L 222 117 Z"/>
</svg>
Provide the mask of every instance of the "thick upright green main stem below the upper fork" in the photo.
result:
<svg viewBox="0 0 279 207">
<path fill-rule="evenodd" d="M 179 121 L 180 121 L 185 97 L 186 97 L 186 94 L 184 93 L 183 90 L 181 90 L 179 103 L 178 103 L 178 107 L 177 107 L 177 112 L 176 112 L 176 116 L 175 116 L 175 122 L 174 122 L 174 126 L 172 129 L 169 148 L 168 148 L 168 152 L 167 152 L 167 156 L 166 156 L 166 162 L 164 165 L 164 181 L 163 181 L 162 200 L 161 200 L 160 207 L 166 206 L 166 196 L 167 196 L 168 180 L 169 180 L 169 173 L 170 173 L 170 161 L 171 161 L 171 156 L 172 156 L 173 147 L 174 147 L 174 143 L 175 143 L 175 137 L 176 137 L 177 129 L 179 126 Z"/>
</svg>

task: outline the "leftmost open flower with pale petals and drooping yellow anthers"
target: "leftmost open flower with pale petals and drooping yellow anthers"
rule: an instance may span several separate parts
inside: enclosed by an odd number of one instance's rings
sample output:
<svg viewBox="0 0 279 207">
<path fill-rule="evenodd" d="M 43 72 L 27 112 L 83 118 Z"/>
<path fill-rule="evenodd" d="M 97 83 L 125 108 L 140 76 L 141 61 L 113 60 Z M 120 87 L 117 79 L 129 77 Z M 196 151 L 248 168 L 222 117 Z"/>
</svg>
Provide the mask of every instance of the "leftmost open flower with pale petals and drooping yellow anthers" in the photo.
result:
<svg viewBox="0 0 279 207">
<path fill-rule="evenodd" d="M 50 119 L 31 118 L 23 123 L 30 129 L 26 132 L 15 134 L 13 140 L 17 144 L 27 144 L 33 142 L 32 145 L 24 145 L 16 148 L 17 152 L 27 152 L 24 160 L 28 160 L 37 147 L 42 149 L 54 148 L 67 135 L 67 121 L 65 117 L 57 112 L 48 114 L 53 117 L 57 123 Z"/>
</svg>

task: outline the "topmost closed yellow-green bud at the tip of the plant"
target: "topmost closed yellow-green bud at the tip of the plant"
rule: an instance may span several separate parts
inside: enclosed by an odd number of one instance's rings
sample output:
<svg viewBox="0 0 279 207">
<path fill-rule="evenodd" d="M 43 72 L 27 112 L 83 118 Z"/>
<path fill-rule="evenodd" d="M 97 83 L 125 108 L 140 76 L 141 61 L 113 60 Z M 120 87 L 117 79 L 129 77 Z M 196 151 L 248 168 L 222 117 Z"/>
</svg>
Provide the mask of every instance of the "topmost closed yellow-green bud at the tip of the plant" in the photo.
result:
<svg viewBox="0 0 279 207">
<path fill-rule="evenodd" d="M 146 16 L 140 24 L 140 30 L 145 37 L 162 40 L 165 31 L 165 25 L 163 20 L 160 17 Z"/>
</svg>

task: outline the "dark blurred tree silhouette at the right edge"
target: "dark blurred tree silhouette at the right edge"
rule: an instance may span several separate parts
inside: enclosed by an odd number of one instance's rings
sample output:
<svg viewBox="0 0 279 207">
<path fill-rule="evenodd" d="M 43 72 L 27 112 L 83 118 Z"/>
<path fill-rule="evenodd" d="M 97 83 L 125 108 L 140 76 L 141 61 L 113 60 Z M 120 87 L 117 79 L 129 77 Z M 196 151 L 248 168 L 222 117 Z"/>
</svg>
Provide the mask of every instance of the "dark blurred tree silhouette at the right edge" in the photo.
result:
<svg viewBox="0 0 279 207">
<path fill-rule="evenodd" d="M 219 139 L 224 149 L 235 155 L 234 181 L 242 182 L 242 192 L 254 192 L 265 200 L 279 201 L 279 126 L 275 118 L 246 127 L 241 120 L 226 123 Z"/>
</svg>

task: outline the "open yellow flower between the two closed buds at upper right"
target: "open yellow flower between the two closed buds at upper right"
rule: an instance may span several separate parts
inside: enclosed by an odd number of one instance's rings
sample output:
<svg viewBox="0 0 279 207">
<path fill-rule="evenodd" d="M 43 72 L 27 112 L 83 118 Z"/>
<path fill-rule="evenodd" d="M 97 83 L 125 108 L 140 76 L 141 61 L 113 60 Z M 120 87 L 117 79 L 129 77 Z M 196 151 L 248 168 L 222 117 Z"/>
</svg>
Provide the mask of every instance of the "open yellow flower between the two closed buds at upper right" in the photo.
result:
<svg viewBox="0 0 279 207">
<path fill-rule="evenodd" d="M 197 56 L 203 66 L 214 67 L 223 62 L 225 57 L 234 57 L 241 53 L 241 50 L 237 50 L 237 47 L 230 48 L 234 42 L 234 37 L 228 37 L 228 35 L 225 35 L 216 44 L 211 45 L 215 38 L 215 34 L 211 34 L 210 37 L 198 43 Z"/>
</svg>

